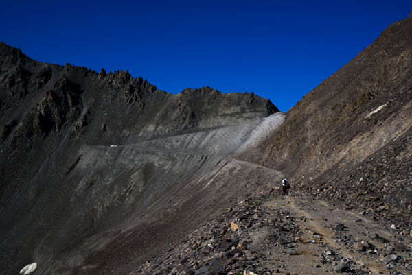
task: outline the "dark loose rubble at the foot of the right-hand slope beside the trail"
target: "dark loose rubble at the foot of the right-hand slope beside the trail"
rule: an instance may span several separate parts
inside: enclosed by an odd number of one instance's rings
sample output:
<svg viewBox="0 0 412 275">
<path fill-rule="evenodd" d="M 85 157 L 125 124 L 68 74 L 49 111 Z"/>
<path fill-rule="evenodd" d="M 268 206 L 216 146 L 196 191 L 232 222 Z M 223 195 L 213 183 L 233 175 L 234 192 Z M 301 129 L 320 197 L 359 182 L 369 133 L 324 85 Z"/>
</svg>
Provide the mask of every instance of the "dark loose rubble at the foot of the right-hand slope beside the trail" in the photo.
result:
<svg viewBox="0 0 412 275">
<path fill-rule="evenodd" d="M 412 170 L 408 164 L 412 156 L 407 153 L 412 146 L 411 135 L 412 128 L 362 163 L 347 165 L 339 175 L 334 170 L 334 180 L 326 179 L 331 174 L 321 176 L 327 182 L 336 182 L 333 186 L 314 188 L 308 184 L 304 189 L 324 200 L 338 198 L 333 201 L 336 206 L 362 210 L 363 215 L 385 220 L 398 234 L 408 235 L 412 226 Z M 362 182 L 359 175 L 363 175 Z"/>
</svg>

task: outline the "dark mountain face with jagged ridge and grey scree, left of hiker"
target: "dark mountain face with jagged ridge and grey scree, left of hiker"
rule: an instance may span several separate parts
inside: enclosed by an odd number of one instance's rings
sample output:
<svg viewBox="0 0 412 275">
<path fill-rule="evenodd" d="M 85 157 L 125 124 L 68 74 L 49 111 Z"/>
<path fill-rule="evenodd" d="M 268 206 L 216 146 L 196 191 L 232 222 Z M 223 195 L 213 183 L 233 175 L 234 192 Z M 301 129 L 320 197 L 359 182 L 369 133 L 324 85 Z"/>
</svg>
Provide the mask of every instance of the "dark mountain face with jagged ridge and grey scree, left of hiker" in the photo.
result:
<svg viewBox="0 0 412 275">
<path fill-rule="evenodd" d="M 3 274 L 118 271 L 279 178 L 231 158 L 283 121 L 253 94 L 170 95 L 1 43 L 0 95 Z"/>
</svg>

